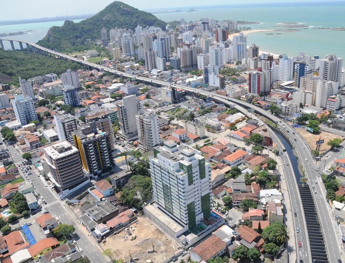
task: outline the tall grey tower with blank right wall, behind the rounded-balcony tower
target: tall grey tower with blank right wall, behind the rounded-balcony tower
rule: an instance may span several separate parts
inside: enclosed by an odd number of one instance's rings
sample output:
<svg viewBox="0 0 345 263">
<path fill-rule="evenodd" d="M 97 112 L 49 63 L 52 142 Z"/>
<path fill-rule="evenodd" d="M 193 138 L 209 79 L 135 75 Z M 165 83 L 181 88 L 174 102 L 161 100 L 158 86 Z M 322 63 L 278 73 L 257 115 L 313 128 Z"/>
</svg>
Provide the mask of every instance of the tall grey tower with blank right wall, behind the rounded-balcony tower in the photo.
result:
<svg viewBox="0 0 345 263">
<path fill-rule="evenodd" d="M 138 139 L 135 115 L 141 110 L 141 107 L 136 95 L 129 95 L 117 101 L 117 118 L 120 125 L 118 135 L 121 140 L 135 141 Z"/>
</svg>

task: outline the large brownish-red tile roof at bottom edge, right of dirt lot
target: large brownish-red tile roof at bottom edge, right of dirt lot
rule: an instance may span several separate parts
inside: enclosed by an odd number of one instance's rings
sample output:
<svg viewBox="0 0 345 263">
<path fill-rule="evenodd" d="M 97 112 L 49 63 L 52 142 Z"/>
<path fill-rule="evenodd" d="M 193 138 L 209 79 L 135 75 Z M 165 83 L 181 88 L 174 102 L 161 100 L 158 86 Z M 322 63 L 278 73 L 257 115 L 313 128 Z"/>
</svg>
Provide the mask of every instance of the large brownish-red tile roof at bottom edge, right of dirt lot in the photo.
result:
<svg viewBox="0 0 345 263">
<path fill-rule="evenodd" d="M 218 236 L 211 235 L 195 246 L 191 252 L 196 253 L 202 260 L 208 261 L 211 257 L 223 250 L 226 244 Z"/>
</svg>

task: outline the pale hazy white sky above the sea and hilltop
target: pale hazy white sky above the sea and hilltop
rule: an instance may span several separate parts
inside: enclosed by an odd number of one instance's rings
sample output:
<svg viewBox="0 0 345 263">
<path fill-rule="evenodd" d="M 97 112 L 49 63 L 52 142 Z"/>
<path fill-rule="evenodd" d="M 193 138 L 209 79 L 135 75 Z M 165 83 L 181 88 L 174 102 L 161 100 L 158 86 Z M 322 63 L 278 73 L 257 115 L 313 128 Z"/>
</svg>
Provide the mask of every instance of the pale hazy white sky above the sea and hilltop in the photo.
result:
<svg viewBox="0 0 345 263">
<path fill-rule="evenodd" d="M 291 3 L 301 2 L 300 0 L 218 0 L 211 2 L 209 0 L 198 0 L 195 3 L 185 0 L 161 1 L 161 0 L 122 0 L 123 2 L 138 8 L 140 10 L 152 10 L 159 8 L 176 8 L 176 7 L 198 7 L 209 6 L 210 4 L 250 4 L 250 3 Z M 344 0 L 338 0 L 344 2 Z M 0 20 L 18 20 L 29 18 L 70 16 L 77 14 L 97 13 L 113 0 L 1 0 L 0 1 Z M 315 0 L 303 0 L 303 2 L 315 2 Z"/>
</svg>

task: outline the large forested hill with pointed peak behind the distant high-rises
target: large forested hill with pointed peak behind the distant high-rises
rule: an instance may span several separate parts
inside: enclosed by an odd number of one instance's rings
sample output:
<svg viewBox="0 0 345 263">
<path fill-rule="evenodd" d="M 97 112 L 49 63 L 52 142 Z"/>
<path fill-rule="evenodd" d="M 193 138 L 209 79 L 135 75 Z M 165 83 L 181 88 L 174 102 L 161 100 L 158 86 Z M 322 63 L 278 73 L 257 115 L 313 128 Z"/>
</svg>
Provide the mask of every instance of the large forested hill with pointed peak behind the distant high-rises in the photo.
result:
<svg viewBox="0 0 345 263">
<path fill-rule="evenodd" d="M 134 30 L 137 25 L 145 28 L 155 26 L 165 29 L 166 22 L 153 14 L 140 11 L 122 2 L 113 2 L 105 9 L 79 23 L 66 20 L 62 27 L 51 27 L 47 36 L 37 44 L 56 51 L 83 51 L 90 47 L 87 39 L 100 39 L 101 29 L 126 28 Z M 85 45 L 87 47 L 85 47 Z"/>
</svg>

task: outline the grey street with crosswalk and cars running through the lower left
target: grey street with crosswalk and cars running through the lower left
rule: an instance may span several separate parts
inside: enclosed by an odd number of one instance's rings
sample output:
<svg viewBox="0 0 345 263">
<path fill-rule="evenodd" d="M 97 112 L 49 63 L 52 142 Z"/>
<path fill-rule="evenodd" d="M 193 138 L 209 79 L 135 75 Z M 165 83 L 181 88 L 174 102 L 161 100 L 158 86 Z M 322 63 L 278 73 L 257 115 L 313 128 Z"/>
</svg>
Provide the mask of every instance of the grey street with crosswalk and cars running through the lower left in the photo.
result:
<svg viewBox="0 0 345 263">
<path fill-rule="evenodd" d="M 12 159 L 14 162 L 21 162 L 24 160 L 22 156 L 17 152 L 16 148 L 8 146 L 8 150 L 12 154 Z M 88 236 L 85 230 L 82 229 L 82 226 L 78 224 L 78 219 L 73 219 L 73 217 L 64 208 L 65 201 L 60 201 L 60 199 L 57 198 L 52 190 L 49 187 L 46 187 L 46 181 L 42 176 L 38 177 L 36 168 L 31 168 L 31 172 L 32 174 L 28 175 L 28 178 L 30 178 L 31 182 L 36 187 L 36 193 L 39 192 L 40 196 L 43 196 L 43 198 L 47 202 L 46 205 L 42 204 L 43 208 L 47 209 L 53 217 L 59 218 L 61 223 L 73 225 L 76 228 L 74 234 L 77 235 L 77 246 L 78 248 L 81 248 L 83 250 L 83 256 L 87 256 L 92 263 L 108 263 L 109 259 L 106 259 L 106 257 L 103 256 L 102 253 L 98 250 L 96 244 L 91 241 L 93 236 Z"/>
</svg>

